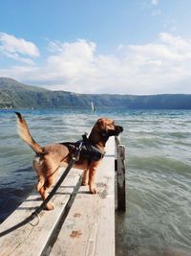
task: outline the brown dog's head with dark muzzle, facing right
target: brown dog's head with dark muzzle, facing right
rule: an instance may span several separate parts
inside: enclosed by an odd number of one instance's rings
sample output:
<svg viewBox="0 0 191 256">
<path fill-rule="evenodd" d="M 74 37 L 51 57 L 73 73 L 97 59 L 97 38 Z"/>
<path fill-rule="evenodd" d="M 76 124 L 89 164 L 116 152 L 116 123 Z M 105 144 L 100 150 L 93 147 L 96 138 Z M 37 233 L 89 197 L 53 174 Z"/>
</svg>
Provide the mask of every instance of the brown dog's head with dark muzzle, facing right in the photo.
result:
<svg viewBox="0 0 191 256">
<path fill-rule="evenodd" d="M 117 136 L 123 128 L 117 126 L 113 119 L 99 118 L 95 125 L 96 130 L 102 137 Z"/>
</svg>

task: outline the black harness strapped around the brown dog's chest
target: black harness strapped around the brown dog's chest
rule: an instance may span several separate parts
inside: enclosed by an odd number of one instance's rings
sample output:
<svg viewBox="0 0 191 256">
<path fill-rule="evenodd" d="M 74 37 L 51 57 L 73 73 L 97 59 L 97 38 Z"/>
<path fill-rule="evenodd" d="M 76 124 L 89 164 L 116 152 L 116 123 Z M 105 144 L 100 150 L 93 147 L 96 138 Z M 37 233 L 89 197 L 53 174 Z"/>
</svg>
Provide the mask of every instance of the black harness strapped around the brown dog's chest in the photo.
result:
<svg viewBox="0 0 191 256">
<path fill-rule="evenodd" d="M 82 135 L 82 140 L 75 143 L 76 148 L 81 144 L 80 154 L 86 158 L 89 162 L 98 161 L 103 158 L 105 152 L 98 150 L 87 138 L 86 135 Z"/>
</svg>

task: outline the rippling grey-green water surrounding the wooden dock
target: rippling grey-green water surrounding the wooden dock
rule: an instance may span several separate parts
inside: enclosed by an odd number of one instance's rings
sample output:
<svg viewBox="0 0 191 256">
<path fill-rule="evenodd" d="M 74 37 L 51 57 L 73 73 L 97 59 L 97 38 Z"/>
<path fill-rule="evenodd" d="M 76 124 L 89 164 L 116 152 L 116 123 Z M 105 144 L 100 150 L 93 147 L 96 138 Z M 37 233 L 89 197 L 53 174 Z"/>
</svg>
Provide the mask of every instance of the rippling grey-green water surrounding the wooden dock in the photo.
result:
<svg viewBox="0 0 191 256">
<path fill-rule="evenodd" d="M 77 141 L 99 117 L 124 128 L 126 212 L 116 212 L 117 256 L 191 255 L 191 110 L 19 110 L 40 144 Z M 35 186 L 33 151 L 12 109 L 0 110 L 0 221 Z"/>
</svg>

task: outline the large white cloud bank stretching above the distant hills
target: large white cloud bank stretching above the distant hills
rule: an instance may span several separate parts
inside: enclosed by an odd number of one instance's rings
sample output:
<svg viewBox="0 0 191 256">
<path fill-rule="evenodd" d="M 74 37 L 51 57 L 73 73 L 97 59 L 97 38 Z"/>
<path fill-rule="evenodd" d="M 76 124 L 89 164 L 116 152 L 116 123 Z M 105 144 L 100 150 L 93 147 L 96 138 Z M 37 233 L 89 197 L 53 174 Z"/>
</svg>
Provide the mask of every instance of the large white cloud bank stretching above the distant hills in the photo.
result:
<svg viewBox="0 0 191 256">
<path fill-rule="evenodd" d="M 96 43 L 83 39 L 53 41 L 49 49 L 43 65 L 0 69 L 0 76 L 83 93 L 191 93 L 191 40 L 180 36 L 121 44 L 113 55 L 97 55 Z"/>
</svg>

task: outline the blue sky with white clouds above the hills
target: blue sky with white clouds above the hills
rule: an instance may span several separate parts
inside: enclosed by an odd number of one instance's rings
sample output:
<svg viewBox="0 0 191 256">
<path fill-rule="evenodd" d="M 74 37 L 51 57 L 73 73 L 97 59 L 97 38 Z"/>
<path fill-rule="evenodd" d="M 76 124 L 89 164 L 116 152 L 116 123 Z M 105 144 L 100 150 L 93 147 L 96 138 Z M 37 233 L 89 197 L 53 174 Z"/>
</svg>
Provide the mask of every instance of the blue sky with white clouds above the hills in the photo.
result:
<svg viewBox="0 0 191 256">
<path fill-rule="evenodd" d="M 0 77 L 50 90 L 191 94 L 190 0 L 6 0 Z"/>
</svg>

